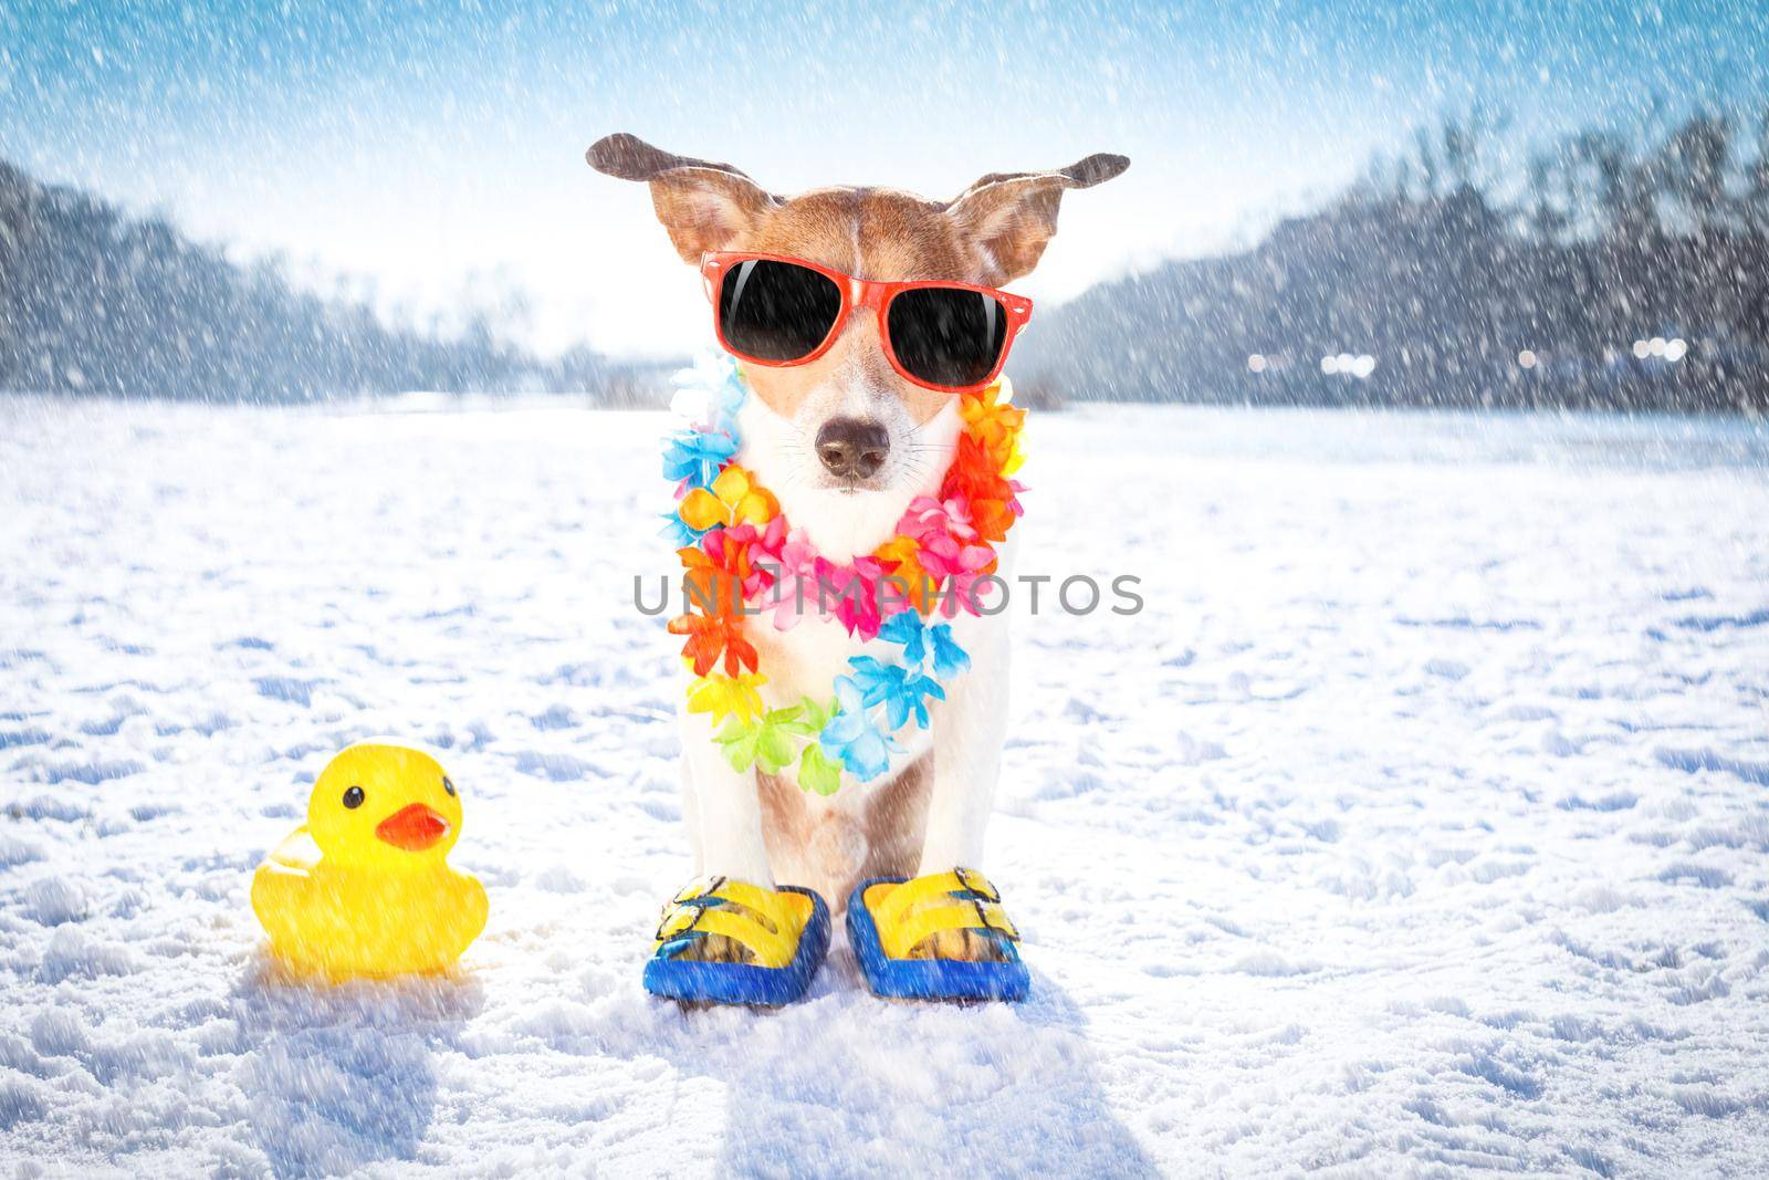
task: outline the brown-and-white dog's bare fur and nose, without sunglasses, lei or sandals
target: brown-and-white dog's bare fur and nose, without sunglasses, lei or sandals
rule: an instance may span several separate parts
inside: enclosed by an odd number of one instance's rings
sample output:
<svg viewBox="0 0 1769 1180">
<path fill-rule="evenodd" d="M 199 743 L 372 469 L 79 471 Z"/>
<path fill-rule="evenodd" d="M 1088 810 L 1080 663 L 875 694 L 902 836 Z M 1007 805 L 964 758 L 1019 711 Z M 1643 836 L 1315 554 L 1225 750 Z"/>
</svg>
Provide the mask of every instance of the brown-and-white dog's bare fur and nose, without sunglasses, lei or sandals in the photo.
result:
<svg viewBox="0 0 1769 1180">
<path fill-rule="evenodd" d="M 1051 172 L 989 173 L 948 202 L 888 188 L 824 188 L 775 196 L 731 165 L 663 152 L 612 134 L 587 152 L 598 172 L 642 180 L 690 265 L 720 251 L 801 258 L 874 281 L 943 280 L 999 288 L 1028 274 L 1056 232 L 1063 193 L 1109 180 L 1129 161 L 1095 154 Z M 709 288 L 709 294 L 711 288 Z M 1026 304 L 1030 310 L 1030 304 Z M 936 495 L 961 433 L 959 398 L 900 373 L 879 317 L 854 313 L 814 361 L 745 366 L 750 387 L 736 462 L 778 497 L 831 561 L 884 543 L 915 497 Z M 998 547 L 1012 579 L 1019 533 Z M 768 674 L 770 708 L 826 699 L 867 644 L 835 623 L 745 628 Z M 925 731 L 899 732 L 888 777 L 833 796 L 789 778 L 734 771 L 702 713 L 681 711 L 685 823 L 695 869 L 773 888 L 810 886 L 837 906 L 867 877 L 980 870 L 1007 734 L 1007 614 L 953 621 L 971 669 L 948 685 Z M 950 934 L 950 932 L 948 932 Z M 959 932 L 962 934 L 962 932 Z M 946 939 L 950 957 L 985 939 Z"/>
</svg>

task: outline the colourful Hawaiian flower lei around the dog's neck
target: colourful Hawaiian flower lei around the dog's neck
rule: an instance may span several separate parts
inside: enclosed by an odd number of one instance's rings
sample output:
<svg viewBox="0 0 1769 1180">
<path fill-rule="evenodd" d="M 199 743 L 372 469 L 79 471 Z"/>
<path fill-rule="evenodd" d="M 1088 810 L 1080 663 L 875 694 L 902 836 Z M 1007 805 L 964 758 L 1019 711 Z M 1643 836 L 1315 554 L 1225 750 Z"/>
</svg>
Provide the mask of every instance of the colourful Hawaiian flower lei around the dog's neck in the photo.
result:
<svg viewBox="0 0 1769 1180">
<path fill-rule="evenodd" d="M 718 357 L 678 384 L 672 409 L 692 421 L 663 448 L 663 478 L 676 485 L 663 536 L 685 570 L 688 614 L 670 619 L 669 630 L 686 637 L 681 653 L 695 676 L 688 711 L 724 725 L 715 739 L 739 771 L 759 766 L 778 775 L 796 764 L 798 785 L 817 794 L 835 794 L 844 770 L 870 782 L 902 752 L 893 734 L 909 718 L 927 729 L 927 702 L 945 701 L 941 685 L 971 665 L 952 624 L 929 624 L 925 616 L 936 600 L 948 619 L 959 610 L 980 614 L 978 579 L 994 573 L 994 545 L 1024 511 L 1010 476 L 1022 462 L 1026 410 L 1008 403 L 1005 377 L 962 395 L 964 430 L 939 495 L 916 497 L 892 540 L 840 564 L 819 556 L 773 494 L 736 464 L 738 410 L 748 396 L 738 366 Z M 764 603 L 777 630 L 793 628 L 808 609 L 849 635 L 895 644 L 900 655 L 851 656 L 853 670 L 835 678 L 833 699 L 801 697 L 770 709 L 761 695 L 768 678 L 743 635 L 748 619 L 768 614 Z"/>
</svg>

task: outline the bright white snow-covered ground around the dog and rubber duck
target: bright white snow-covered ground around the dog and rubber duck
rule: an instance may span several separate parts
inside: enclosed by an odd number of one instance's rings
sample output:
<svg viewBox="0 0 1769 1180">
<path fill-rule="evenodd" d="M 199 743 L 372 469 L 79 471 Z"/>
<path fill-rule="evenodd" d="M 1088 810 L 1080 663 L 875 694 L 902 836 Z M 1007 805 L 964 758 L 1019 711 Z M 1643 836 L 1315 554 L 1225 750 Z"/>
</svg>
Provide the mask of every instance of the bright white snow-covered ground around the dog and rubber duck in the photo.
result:
<svg viewBox="0 0 1769 1180">
<path fill-rule="evenodd" d="M 987 870 L 1033 1000 L 639 987 L 678 833 L 660 418 L 0 400 L 0 1175 L 1762 1175 L 1769 433 L 1097 407 Z M 460 978 L 246 902 L 371 732 L 465 785 Z"/>
</svg>

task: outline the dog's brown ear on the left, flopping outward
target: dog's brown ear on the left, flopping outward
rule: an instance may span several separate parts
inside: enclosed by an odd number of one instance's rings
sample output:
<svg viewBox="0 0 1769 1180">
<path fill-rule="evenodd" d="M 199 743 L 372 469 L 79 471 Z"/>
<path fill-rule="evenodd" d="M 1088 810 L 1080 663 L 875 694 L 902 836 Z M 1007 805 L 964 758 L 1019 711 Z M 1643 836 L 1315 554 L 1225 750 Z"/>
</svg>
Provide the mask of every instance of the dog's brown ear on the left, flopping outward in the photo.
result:
<svg viewBox="0 0 1769 1180">
<path fill-rule="evenodd" d="M 780 203 L 731 165 L 672 156 L 624 131 L 596 140 L 584 159 L 596 172 L 651 184 L 651 203 L 676 253 L 692 265 L 727 249 Z"/>
</svg>

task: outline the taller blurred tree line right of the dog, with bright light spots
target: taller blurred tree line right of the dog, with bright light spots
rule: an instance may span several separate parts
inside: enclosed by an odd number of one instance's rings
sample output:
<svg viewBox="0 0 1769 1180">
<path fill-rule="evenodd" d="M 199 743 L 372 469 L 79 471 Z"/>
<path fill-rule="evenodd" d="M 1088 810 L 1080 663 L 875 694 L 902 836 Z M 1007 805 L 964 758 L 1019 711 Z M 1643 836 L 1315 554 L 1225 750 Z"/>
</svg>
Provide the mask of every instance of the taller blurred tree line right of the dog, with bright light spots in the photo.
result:
<svg viewBox="0 0 1769 1180">
<path fill-rule="evenodd" d="M 1769 407 L 1769 113 L 1421 131 L 1254 249 L 1093 288 L 1015 366 L 1070 398 Z M 1643 356 L 1640 356 L 1643 354 Z"/>
</svg>

